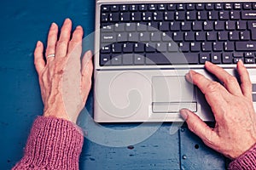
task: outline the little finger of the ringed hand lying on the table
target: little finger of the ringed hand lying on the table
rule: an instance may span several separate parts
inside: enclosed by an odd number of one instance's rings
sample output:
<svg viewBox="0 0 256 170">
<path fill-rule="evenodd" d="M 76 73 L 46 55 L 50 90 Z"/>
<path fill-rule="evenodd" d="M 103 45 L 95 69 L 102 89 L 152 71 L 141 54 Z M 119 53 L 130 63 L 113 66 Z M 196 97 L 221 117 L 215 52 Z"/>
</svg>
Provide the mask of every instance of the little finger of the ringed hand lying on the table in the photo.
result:
<svg viewBox="0 0 256 170">
<path fill-rule="evenodd" d="M 45 67 L 43 52 L 44 52 L 44 45 L 42 42 L 38 41 L 37 47 L 35 48 L 35 51 L 34 51 L 34 64 L 38 72 L 38 75 L 44 70 L 44 67 Z"/>
</svg>

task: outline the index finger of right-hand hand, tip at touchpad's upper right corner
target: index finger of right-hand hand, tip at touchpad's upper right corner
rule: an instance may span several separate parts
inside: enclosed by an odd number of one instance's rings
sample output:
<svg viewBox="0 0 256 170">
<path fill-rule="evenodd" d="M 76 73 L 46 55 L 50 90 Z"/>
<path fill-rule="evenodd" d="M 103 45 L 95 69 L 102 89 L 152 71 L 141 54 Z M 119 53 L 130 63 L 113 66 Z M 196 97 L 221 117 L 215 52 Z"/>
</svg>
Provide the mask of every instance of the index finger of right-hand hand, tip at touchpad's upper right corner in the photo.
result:
<svg viewBox="0 0 256 170">
<path fill-rule="evenodd" d="M 225 96 L 230 95 L 226 89 L 218 82 L 213 82 L 195 71 L 189 71 L 189 74 L 186 75 L 186 79 L 195 84 L 195 86 L 200 88 L 201 92 L 205 94 L 214 116 L 221 117 L 221 111 L 219 111 L 221 108 L 219 105 L 226 103 Z"/>
</svg>

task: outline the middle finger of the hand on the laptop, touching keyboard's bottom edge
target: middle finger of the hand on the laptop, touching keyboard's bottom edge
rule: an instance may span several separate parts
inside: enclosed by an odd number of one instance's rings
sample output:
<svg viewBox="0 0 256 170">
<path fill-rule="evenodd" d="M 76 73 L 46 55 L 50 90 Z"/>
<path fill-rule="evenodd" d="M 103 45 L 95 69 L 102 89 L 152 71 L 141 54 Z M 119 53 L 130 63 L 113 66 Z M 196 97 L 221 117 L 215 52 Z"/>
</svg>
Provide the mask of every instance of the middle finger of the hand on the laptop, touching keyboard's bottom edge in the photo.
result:
<svg viewBox="0 0 256 170">
<path fill-rule="evenodd" d="M 213 65 L 210 62 L 206 62 L 206 69 L 210 71 L 214 76 L 216 76 L 221 82 L 224 82 L 224 87 L 234 95 L 242 95 L 241 88 L 237 82 L 236 77 L 231 76 L 227 71 L 218 65 Z"/>
</svg>

